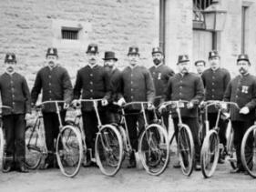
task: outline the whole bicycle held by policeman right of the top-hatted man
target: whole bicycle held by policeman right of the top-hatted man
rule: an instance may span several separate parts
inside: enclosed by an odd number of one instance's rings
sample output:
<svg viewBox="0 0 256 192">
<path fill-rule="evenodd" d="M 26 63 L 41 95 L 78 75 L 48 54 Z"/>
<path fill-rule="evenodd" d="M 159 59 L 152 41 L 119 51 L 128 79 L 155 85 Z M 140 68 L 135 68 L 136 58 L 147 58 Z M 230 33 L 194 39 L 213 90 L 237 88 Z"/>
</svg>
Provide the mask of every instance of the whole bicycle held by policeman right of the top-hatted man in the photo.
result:
<svg viewBox="0 0 256 192">
<path fill-rule="evenodd" d="M 124 157 L 130 157 L 133 149 L 130 144 L 128 135 L 128 126 L 125 116 L 131 114 L 142 114 L 144 119 L 144 126 L 140 133 L 138 133 L 138 156 L 141 159 L 142 166 L 147 173 L 152 176 L 159 176 L 166 169 L 169 163 L 169 145 L 167 131 L 163 126 L 153 123 L 148 124 L 146 115 L 146 107 L 148 102 L 129 102 L 121 107 L 121 120 L 118 125 L 123 144 L 124 144 Z M 140 111 L 138 113 L 126 113 L 125 109 L 128 106 L 139 105 Z M 153 110 L 154 115 L 155 111 Z M 156 116 L 156 115 L 155 115 Z M 125 128 L 124 128 L 125 127 Z"/>
</svg>

